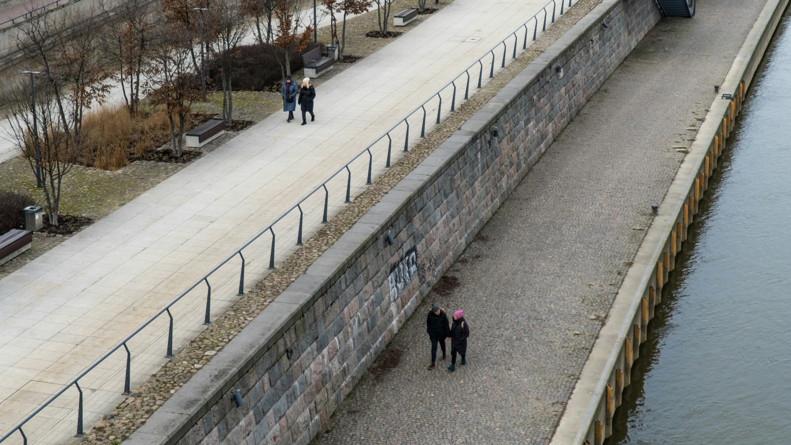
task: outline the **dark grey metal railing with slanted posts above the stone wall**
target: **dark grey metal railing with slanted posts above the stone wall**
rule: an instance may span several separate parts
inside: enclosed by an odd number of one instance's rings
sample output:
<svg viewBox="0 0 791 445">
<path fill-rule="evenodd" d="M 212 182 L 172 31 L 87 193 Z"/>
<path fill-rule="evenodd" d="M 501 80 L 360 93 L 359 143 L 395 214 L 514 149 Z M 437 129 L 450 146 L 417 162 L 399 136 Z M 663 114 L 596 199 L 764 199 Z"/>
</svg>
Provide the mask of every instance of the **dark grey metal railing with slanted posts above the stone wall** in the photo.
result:
<svg viewBox="0 0 791 445">
<path fill-rule="evenodd" d="M 64 0 L 64 1 L 66 1 L 66 0 Z M 214 268 L 212 270 L 210 270 L 208 273 L 206 273 L 201 278 L 199 278 L 199 280 L 195 281 L 195 283 L 193 285 L 191 285 L 189 288 L 187 288 L 187 290 L 185 290 L 184 292 L 181 292 L 181 294 L 179 296 L 177 296 L 174 300 L 172 300 L 170 303 L 168 303 L 160 311 L 157 311 L 157 313 L 155 315 L 153 315 L 152 317 L 150 317 L 145 323 L 143 323 L 142 326 L 139 326 L 136 330 L 134 330 L 134 332 L 132 332 L 131 334 L 127 335 L 126 338 L 123 338 L 123 340 L 120 341 L 117 345 L 115 345 L 115 347 L 110 349 L 107 353 L 104 353 L 104 355 L 100 356 L 100 358 L 97 359 L 96 361 L 94 361 L 93 364 L 91 364 L 89 366 L 89 368 L 86 368 L 85 371 L 82 371 L 77 377 L 72 379 L 70 381 L 70 383 L 67 383 L 64 387 L 62 387 L 61 390 L 59 390 L 57 393 L 52 395 L 50 398 L 47 399 L 47 401 L 42 403 L 35 411 L 33 411 L 27 417 L 25 417 L 24 420 L 21 420 L 21 422 L 19 422 L 16 426 L 14 426 L 9 432 L 6 432 L 6 434 L 4 436 L 2 436 L 2 438 L 0 438 L 0 442 L 2 442 L 5 439 L 9 438 L 9 436 L 11 436 L 14 432 L 18 431 L 21 434 L 21 436 L 22 436 L 22 439 L 24 441 L 24 445 L 27 445 L 28 439 L 27 439 L 27 436 L 25 435 L 25 432 L 23 430 L 23 427 L 25 426 L 25 424 L 28 422 L 28 420 L 31 420 L 33 417 L 35 417 L 36 414 L 40 413 L 40 411 L 42 409 L 46 408 L 47 405 L 50 405 L 51 402 L 53 402 L 56 398 L 58 398 L 66 390 L 70 389 L 70 387 L 76 387 L 77 390 L 79 391 L 77 432 L 74 435 L 74 437 L 81 437 L 81 436 L 83 436 L 85 434 L 85 432 L 83 430 L 83 398 L 82 398 L 82 390 L 81 390 L 81 388 L 79 386 L 79 383 L 78 383 L 79 379 L 84 377 L 86 374 L 89 373 L 89 371 L 92 371 L 93 368 L 96 368 L 98 364 L 100 364 L 102 361 L 106 360 L 109 356 L 111 356 L 113 353 L 115 353 L 116 351 L 118 351 L 119 349 L 121 349 L 123 347 L 123 349 L 125 349 L 126 356 L 127 356 L 127 360 L 126 360 L 126 365 L 127 366 L 126 366 L 126 373 L 125 373 L 125 378 L 124 378 L 124 383 L 123 383 L 123 393 L 122 394 L 124 394 L 124 395 L 131 394 L 131 351 L 130 351 L 129 347 L 127 346 L 127 342 L 130 341 L 131 338 L 134 338 L 135 335 L 137 335 L 141 330 L 146 328 L 146 326 L 149 326 L 149 324 L 151 324 L 154 320 L 156 320 L 160 315 L 167 313 L 169 322 L 168 322 L 168 344 L 167 344 L 167 349 L 166 349 L 166 352 L 165 352 L 165 357 L 166 358 L 171 358 L 173 356 L 173 315 L 172 315 L 170 309 L 173 306 L 173 304 L 176 304 L 179 300 L 181 300 L 184 296 L 187 295 L 187 293 L 191 292 L 194 288 L 198 287 L 202 283 L 205 283 L 206 284 L 206 310 L 204 312 L 203 324 L 204 325 L 209 325 L 211 323 L 211 321 L 210 321 L 211 285 L 210 285 L 209 278 L 211 277 L 211 275 L 214 272 L 216 272 L 218 269 L 221 268 L 221 266 L 224 266 L 227 262 L 231 261 L 233 258 L 237 257 L 237 255 L 238 255 L 239 258 L 240 258 L 240 261 L 241 261 L 241 264 L 240 264 L 241 269 L 240 269 L 240 275 L 239 275 L 239 292 L 238 292 L 237 296 L 243 296 L 244 295 L 244 266 L 245 266 L 245 259 L 244 259 L 244 255 L 242 255 L 242 251 L 244 251 L 245 247 L 248 247 L 256 239 L 259 239 L 260 236 L 263 236 L 263 234 L 265 234 L 267 232 L 270 232 L 270 234 L 271 234 L 271 248 L 269 249 L 270 253 L 269 253 L 269 267 L 268 267 L 268 269 L 269 270 L 274 270 L 275 239 L 276 239 L 276 234 L 274 232 L 275 224 L 278 224 L 278 222 L 282 221 L 285 217 L 290 215 L 290 213 L 292 213 L 295 209 L 298 210 L 299 211 L 299 226 L 298 226 L 298 230 L 297 230 L 297 244 L 296 245 L 297 246 L 301 246 L 302 245 L 302 228 L 303 228 L 303 221 L 304 221 L 304 217 L 305 217 L 305 213 L 303 212 L 302 206 L 305 205 L 305 201 L 308 200 L 308 198 L 311 198 L 319 190 L 324 189 L 324 212 L 322 213 L 321 223 L 322 224 L 326 224 L 327 223 L 327 210 L 328 210 L 328 206 L 329 206 L 329 196 L 330 196 L 329 190 L 327 189 L 327 183 L 329 183 L 331 181 L 331 179 L 334 179 L 336 176 L 340 175 L 344 170 L 346 170 L 346 172 L 347 172 L 347 175 L 346 175 L 346 178 L 345 178 L 346 179 L 346 199 L 345 199 L 344 203 L 350 203 L 351 202 L 351 177 L 352 177 L 350 165 L 352 163 L 354 163 L 355 160 L 358 160 L 360 157 L 363 157 L 363 155 L 365 155 L 365 153 L 367 153 L 369 155 L 368 166 L 367 166 L 368 167 L 367 168 L 367 176 L 366 176 L 365 184 L 366 185 L 371 184 L 371 182 L 372 182 L 371 174 L 372 174 L 372 168 L 373 168 L 373 153 L 371 152 L 371 149 L 373 149 L 374 145 L 377 145 L 380 141 L 384 141 L 384 138 L 387 138 L 388 149 L 387 149 L 387 156 L 386 156 L 384 167 L 385 168 L 389 168 L 391 166 L 391 154 L 392 154 L 392 142 L 393 142 L 391 134 L 393 134 L 396 129 L 399 129 L 402 126 L 405 127 L 406 131 L 403 134 L 403 138 L 404 138 L 403 139 L 403 152 L 407 152 L 408 149 L 409 149 L 409 141 L 410 141 L 410 139 L 409 139 L 409 130 L 410 130 L 409 119 L 411 119 L 415 115 L 415 113 L 418 113 L 418 111 L 422 111 L 422 116 L 418 115 L 418 118 L 422 119 L 421 130 L 420 130 L 420 138 L 425 138 L 426 137 L 426 115 L 427 115 L 426 106 L 428 106 L 430 104 L 430 102 L 432 102 L 433 100 L 437 99 L 437 119 L 436 119 L 436 124 L 439 124 L 440 121 L 441 121 L 442 94 L 443 93 L 445 93 L 445 97 L 446 98 L 447 98 L 447 94 L 450 93 L 450 100 L 451 100 L 450 111 L 451 112 L 455 111 L 456 110 L 456 89 L 457 89 L 457 86 L 460 86 L 460 85 L 456 85 L 457 81 L 460 81 L 460 79 L 462 77 L 466 76 L 466 80 L 464 80 L 464 100 L 467 100 L 469 98 L 469 90 L 470 90 L 471 78 L 474 78 L 474 74 L 475 74 L 474 73 L 474 71 L 475 71 L 474 68 L 476 66 L 478 67 L 478 70 L 477 70 L 478 71 L 478 84 L 477 84 L 477 86 L 475 88 L 480 89 L 480 88 L 482 88 L 484 66 L 488 65 L 488 68 L 489 68 L 488 77 L 489 78 L 493 78 L 494 77 L 494 65 L 495 65 L 496 62 L 498 62 L 498 60 L 501 59 L 501 62 L 499 64 L 500 68 L 505 68 L 505 60 L 506 60 L 506 57 L 507 57 L 507 50 L 508 50 L 508 47 L 509 47 L 509 43 L 511 43 L 511 42 L 513 42 L 513 52 L 511 54 L 511 58 L 512 59 L 513 58 L 517 58 L 517 46 L 518 46 L 518 43 L 519 43 L 519 37 L 522 34 L 522 32 L 521 32 L 522 28 L 524 28 L 524 36 L 523 36 L 523 43 L 522 43 L 522 49 L 524 50 L 524 49 L 527 48 L 527 45 L 528 45 L 528 37 L 532 37 L 532 40 L 536 40 L 536 36 L 538 34 L 539 22 L 541 24 L 542 32 L 546 31 L 547 30 L 547 20 L 549 20 L 550 23 L 554 23 L 554 21 L 555 21 L 555 13 L 558 12 L 557 11 L 558 4 L 559 4 L 559 8 L 560 8 L 559 13 L 562 15 L 563 11 L 564 11 L 564 3 L 565 2 L 566 2 L 566 0 L 549 0 L 549 2 L 547 2 L 547 4 L 544 5 L 542 9 L 539 10 L 539 12 L 537 12 L 532 17 L 530 17 L 528 19 L 528 21 L 524 22 L 524 24 L 520 25 L 516 29 L 516 31 L 512 32 L 511 34 L 509 34 L 508 37 L 506 37 L 505 39 L 501 40 L 497 45 L 492 47 L 489 51 L 486 51 L 486 53 L 483 55 L 483 57 L 481 57 L 477 61 L 473 62 L 470 66 L 467 67 L 466 70 L 462 71 L 458 76 L 453 78 L 452 81 L 449 81 L 441 89 L 437 90 L 437 92 L 435 92 L 433 95 L 431 95 L 429 97 L 429 99 L 425 100 L 422 104 L 418 105 L 418 107 L 415 107 L 414 110 L 412 110 L 409 114 L 407 114 L 407 116 L 405 118 L 399 120 L 398 123 L 396 123 L 389 130 L 387 130 L 384 134 L 382 134 L 379 138 L 377 138 L 375 141 L 373 141 L 371 144 L 369 144 L 367 147 L 365 147 L 365 149 L 363 149 L 360 153 L 358 153 L 356 156 L 352 157 L 348 162 L 346 162 L 346 164 L 343 165 L 343 167 L 341 167 L 338 170 L 336 170 L 334 173 L 332 173 L 332 175 L 327 177 L 327 179 L 325 179 L 322 183 L 320 183 L 318 186 L 313 188 L 308 194 L 306 194 L 303 198 L 301 198 L 299 200 L 299 202 L 297 202 L 296 204 L 291 206 L 285 212 L 281 213 L 281 215 L 279 217 L 277 217 L 274 221 L 272 221 L 271 224 L 267 225 L 266 228 L 263 228 L 261 231 L 256 233 L 255 236 L 253 236 L 251 239 L 249 239 L 247 243 L 244 243 L 236 251 L 233 251 L 233 253 L 231 255 L 229 255 L 227 258 L 225 258 L 223 261 L 221 261 L 217 266 L 214 266 Z M 569 2 L 568 7 L 571 7 L 572 6 L 572 0 L 568 0 L 568 2 Z M 551 6 L 551 12 L 549 10 L 550 6 Z M 532 36 L 529 36 L 529 25 L 531 24 L 531 22 L 533 23 L 533 32 L 532 32 Z M 499 55 L 500 54 L 499 53 L 499 48 L 501 46 L 502 46 L 502 56 L 500 57 L 500 55 Z M 495 51 L 497 51 L 497 52 L 495 53 Z M 489 60 L 488 60 L 489 58 L 491 58 L 491 62 L 489 62 Z M 471 77 L 471 71 L 473 72 L 473 77 Z M 460 84 L 461 83 L 462 82 L 460 82 Z M 451 89 L 451 88 L 452 88 L 452 92 L 446 92 L 446 90 Z M 446 99 L 446 101 L 447 101 L 447 99 Z"/>
</svg>

